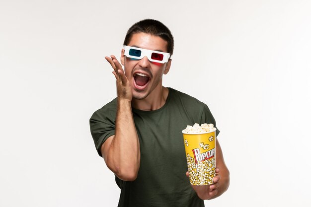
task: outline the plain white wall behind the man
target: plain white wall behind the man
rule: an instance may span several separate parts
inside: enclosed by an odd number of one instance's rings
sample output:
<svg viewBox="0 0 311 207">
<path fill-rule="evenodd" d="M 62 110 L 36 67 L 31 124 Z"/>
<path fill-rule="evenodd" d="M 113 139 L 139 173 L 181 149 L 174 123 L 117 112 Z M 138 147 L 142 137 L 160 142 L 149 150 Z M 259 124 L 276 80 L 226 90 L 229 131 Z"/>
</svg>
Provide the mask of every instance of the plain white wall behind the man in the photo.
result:
<svg viewBox="0 0 311 207">
<path fill-rule="evenodd" d="M 231 171 L 206 206 L 310 206 L 309 0 L 0 0 L 0 206 L 113 207 L 91 114 L 115 97 L 103 59 L 127 29 L 175 38 L 164 85 L 210 107 Z M 185 81 L 187 80 L 187 81 Z"/>
</svg>

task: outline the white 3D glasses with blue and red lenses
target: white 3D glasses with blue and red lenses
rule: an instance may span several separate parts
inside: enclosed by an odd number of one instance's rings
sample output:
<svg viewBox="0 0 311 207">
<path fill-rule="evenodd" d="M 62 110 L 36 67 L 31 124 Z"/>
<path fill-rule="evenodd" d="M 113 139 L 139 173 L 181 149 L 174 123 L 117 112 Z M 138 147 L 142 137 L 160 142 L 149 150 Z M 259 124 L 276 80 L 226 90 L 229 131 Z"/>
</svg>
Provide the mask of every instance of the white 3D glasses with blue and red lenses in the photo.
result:
<svg viewBox="0 0 311 207">
<path fill-rule="evenodd" d="M 154 50 L 124 46 L 124 55 L 128 58 L 141 60 L 147 56 L 148 60 L 156 63 L 167 63 L 170 57 L 169 53 L 163 53 Z"/>
</svg>

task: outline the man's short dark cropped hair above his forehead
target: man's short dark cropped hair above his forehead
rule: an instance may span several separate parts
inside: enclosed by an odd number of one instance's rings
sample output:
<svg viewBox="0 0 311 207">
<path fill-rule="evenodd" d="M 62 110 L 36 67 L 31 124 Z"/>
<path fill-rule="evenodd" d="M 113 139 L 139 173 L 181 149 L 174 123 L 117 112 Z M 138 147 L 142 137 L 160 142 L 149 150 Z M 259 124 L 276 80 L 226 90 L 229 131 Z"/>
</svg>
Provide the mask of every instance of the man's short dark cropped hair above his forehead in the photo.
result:
<svg viewBox="0 0 311 207">
<path fill-rule="evenodd" d="M 144 32 L 147 34 L 155 35 L 167 42 L 167 52 L 170 55 L 174 50 L 174 38 L 169 29 L 161 22 L 154 19 L 144 19 L 133 24 L 127 31 L 123 45 L 128 45 L 133 34 Z"/>
</svg>

